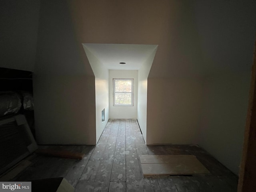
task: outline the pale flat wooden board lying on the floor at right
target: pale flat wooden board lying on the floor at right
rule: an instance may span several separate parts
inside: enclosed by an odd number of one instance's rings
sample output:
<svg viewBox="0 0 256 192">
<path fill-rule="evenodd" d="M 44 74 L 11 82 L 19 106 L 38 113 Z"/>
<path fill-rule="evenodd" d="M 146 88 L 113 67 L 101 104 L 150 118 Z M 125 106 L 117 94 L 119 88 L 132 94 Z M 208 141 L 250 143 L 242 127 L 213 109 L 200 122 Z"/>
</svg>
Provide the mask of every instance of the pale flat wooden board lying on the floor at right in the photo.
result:
<svg viewBox="0 0 256 192">
<path fill-rule="evenodd" d="M 144 176 L 209 174 L 194 155 L 140 155 Z"/>
</svg>

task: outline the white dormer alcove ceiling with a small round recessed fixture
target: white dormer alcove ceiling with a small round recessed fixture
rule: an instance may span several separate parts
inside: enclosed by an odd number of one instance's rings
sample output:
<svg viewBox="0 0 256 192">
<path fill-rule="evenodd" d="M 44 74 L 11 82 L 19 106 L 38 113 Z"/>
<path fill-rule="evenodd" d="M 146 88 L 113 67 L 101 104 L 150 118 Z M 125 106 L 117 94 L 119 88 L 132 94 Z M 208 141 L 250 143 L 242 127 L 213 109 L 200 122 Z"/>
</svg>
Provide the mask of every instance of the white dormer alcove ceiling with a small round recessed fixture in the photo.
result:
<svg viewBox="0 0 256 192">
<path fill-rule="evenodd" d="M 139 44 L 84 43 L 83 46 L 110 70 L 139 70 L 157 48 L 157 45 Z M 126 64 L 119 64 L 120 62 Z"/>
</svg>

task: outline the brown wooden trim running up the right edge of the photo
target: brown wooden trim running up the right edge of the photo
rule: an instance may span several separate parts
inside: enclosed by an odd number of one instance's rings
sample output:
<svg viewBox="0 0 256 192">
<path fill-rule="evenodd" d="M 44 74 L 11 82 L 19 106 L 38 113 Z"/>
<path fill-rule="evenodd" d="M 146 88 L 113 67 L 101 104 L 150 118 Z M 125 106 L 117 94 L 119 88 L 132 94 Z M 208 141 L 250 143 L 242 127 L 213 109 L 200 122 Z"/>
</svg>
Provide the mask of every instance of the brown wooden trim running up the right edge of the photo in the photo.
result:
<svg viewBox="0 0 256 192">
<path fill-rule="evenodd" d="M 256 189 L 256 41 L 252 65 L 249 103 L 244 132 L 244 148 L 238 181 L 238 192 L 250 192 Z"/>
</svg>

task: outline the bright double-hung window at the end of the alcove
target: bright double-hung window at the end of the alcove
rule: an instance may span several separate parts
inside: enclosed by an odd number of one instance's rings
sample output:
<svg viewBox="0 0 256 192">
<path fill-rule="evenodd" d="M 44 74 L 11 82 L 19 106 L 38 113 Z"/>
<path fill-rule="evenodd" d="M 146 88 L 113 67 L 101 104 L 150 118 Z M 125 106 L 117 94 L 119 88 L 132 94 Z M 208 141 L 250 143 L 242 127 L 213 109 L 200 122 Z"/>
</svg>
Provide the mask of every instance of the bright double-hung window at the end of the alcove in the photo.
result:
<svg viewBox="0 0 256 192">
<path fill-rule="evenodd" d="M 113 79 L 114 106 L 133 106 L 134 79 Z"/>
</svg>

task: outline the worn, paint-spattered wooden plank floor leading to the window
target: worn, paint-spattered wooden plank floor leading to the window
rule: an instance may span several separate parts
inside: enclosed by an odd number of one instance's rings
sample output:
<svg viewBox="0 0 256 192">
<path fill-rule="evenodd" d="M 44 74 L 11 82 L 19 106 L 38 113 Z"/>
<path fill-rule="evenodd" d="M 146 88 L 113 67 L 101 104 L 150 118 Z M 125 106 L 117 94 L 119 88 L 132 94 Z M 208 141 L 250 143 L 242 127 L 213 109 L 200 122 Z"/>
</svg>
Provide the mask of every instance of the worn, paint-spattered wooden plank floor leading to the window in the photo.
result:
<svg viewBox="0 0 256 192">
<path fill-rule="evenodd" d="M 14 181 L 64 177 L 76 192 L 236 192 L 238 177 L 199 146 L 146 146 L 137 120 L 109 120 L 96 146 L 55 146 L 82 160 L 32 156 Z M 192 154 L 210 171 L 197 176 L 143 178 L 139 155 Z"/>
</svg>

